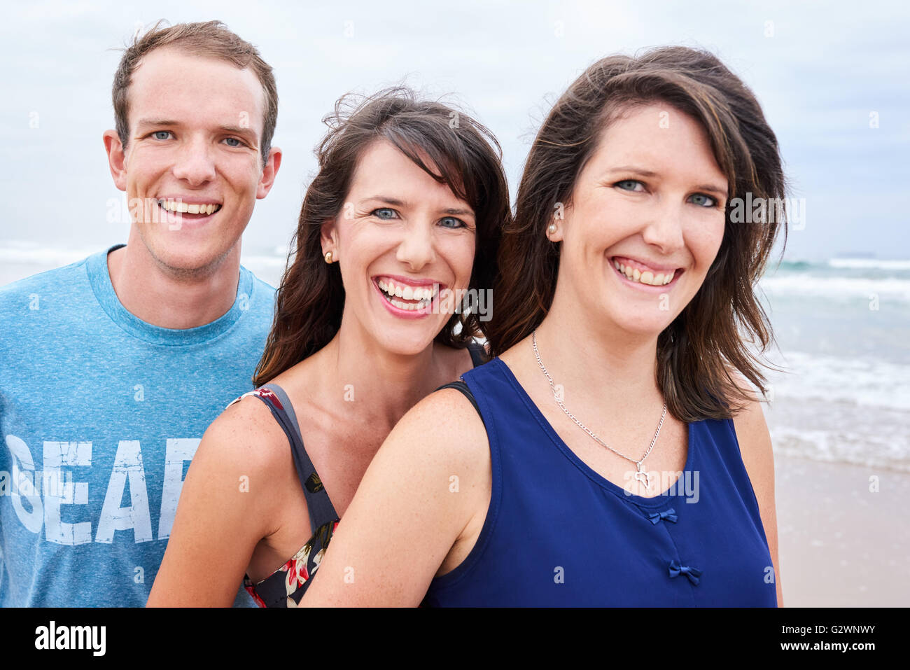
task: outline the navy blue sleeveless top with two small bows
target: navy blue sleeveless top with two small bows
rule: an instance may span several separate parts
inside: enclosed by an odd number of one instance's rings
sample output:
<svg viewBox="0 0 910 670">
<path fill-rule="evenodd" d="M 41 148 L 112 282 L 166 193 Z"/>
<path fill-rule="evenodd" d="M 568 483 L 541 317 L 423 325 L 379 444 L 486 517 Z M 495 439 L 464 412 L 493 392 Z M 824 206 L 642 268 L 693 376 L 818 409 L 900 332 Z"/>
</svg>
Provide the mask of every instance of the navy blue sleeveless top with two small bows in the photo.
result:
<svg viewBox="0 0 910 670">
<path fill-rule="evenodd" d="M 682 476 L 643 498 L 582 462 L 499 358 L 462 379 L 490 440 L 490 508 L 423 604 L 777 606 L 732 419 L 689 423 Z"/>
</svg>

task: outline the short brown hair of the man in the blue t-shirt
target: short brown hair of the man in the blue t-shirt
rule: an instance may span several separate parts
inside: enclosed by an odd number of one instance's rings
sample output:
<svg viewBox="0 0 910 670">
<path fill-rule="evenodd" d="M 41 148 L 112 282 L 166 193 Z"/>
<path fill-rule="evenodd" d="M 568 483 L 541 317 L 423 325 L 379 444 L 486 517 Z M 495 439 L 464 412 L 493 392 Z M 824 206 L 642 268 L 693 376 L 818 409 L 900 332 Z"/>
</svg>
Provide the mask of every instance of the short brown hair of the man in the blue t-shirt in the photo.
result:
<svg viewBox="0 0 910 670">
<path fill-rule="evenodd" d="M 278 121 L 278 88 L 272 68 L 261 56 L 258 49 L 227 29 L 220 21 L 206 21 L 195 24 L 177 24 L 161 27 L 158 21 L 145 35 L 136 36 L 133 44 L 126 47 L 120 66 L 114 75 L 113 97 L 116 134 L 120 144 L 126 148 L 129 138 L 129 99 L 127 97 L 133 73 L 142 58 L 162 46 L 177 46 L 192 56 L 209 56 L 226 60 L 240 69 L 250 68 L 258 77 L 266 94 L 265 118 L 262 127 L 262 162 L 268 160 L 268 151 Z"/>
</svg>

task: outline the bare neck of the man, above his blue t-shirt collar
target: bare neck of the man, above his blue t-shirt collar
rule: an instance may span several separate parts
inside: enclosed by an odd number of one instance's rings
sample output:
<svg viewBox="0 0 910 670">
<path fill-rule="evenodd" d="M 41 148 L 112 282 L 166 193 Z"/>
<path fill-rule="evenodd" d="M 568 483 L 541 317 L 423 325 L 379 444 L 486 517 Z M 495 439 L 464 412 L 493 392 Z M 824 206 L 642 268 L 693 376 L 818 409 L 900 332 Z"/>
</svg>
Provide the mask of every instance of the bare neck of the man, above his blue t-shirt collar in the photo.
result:
<svg viewBox="0 0 910 670">
<path fill-rule="evenodd" d="M 126 247 L 107 255 L 107 270 L 117 299 L 136 318 L 160 328 L 196 328 L 224 316 L 234 304 L 240 242 L 216 269 L 186 272 L 155 259 L 133 226 Z"/>
</svg>

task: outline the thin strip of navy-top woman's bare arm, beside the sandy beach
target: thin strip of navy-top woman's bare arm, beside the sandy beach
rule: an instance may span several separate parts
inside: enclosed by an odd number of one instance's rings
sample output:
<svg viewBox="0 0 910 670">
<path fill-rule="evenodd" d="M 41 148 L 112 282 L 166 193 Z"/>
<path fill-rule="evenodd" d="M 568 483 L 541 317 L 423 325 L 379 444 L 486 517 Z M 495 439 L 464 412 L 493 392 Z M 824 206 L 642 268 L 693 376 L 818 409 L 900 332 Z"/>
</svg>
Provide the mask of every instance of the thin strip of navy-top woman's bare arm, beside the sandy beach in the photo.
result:
<svg viewBox="0 0 910 670">
<path fill-rule="evenodd" d="M 744 383 L 744 382 L 743 382 Z M 750 400 L 743 411 L 733 417 L 736 439 L 740 444 L 743 464 L 762 517 L 764 535 L 768 538 L 768 548 L 774 569 L 774 585 L 777 593 L 777 606 L 784 606 L 784 593 L 781 587 L 780 562 L 777 556 L 777 511 L 774 504 L 774 456 L 771 447 L 771 435 L 764 421 L 762 403 L 750 393 Z"/>
</svg>

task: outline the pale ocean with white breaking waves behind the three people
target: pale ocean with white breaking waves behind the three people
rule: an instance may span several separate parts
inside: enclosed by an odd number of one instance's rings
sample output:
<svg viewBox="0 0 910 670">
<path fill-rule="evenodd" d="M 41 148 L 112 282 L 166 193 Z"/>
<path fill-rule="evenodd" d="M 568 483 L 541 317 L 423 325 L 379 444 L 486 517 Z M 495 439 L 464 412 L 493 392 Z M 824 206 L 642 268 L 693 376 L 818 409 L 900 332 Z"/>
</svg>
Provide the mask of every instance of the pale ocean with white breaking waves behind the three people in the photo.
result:
<svg viewBox="0 0 910 670">
<path fill-rule="evenodd" d="M 0 285 L 98 249 L 0 242 Z M 243 264 L 278 285 L 287 249 L 245 249 Z M 765 360 L 764 413 L 775 453 L 910 472 L 910 260 L 786 260 L 759 296 L 776 346 Z"/>
</svg>

